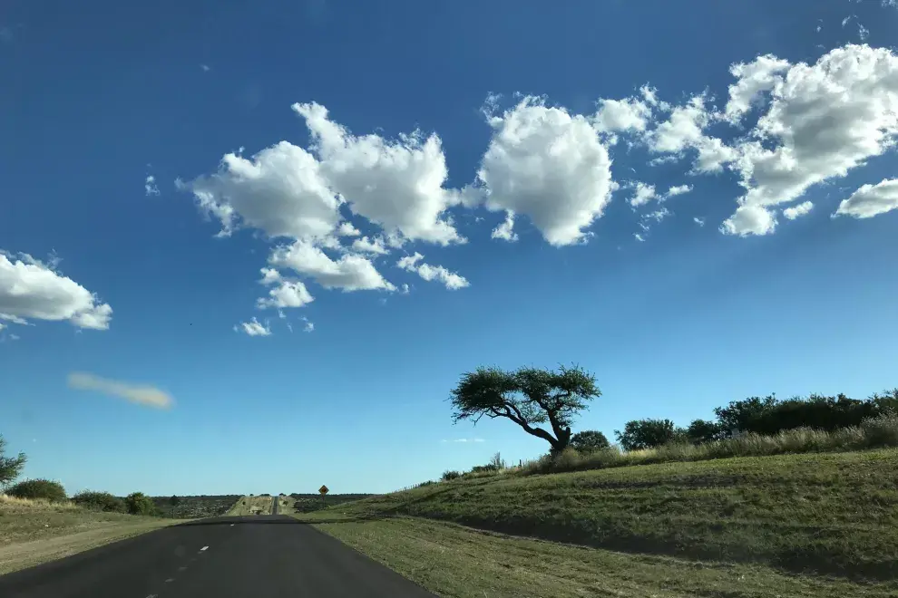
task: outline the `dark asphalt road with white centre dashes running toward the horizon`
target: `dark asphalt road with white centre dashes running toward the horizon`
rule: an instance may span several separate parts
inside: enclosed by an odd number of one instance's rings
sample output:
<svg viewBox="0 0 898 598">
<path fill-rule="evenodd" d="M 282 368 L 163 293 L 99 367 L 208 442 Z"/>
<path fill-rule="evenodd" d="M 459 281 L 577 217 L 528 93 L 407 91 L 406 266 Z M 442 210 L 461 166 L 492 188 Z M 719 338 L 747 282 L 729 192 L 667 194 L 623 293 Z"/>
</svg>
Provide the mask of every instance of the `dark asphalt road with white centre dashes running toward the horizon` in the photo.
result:
<svg viewBox="0 0 898 598">
<path fill-rule="evenodd" d="M 434 598 L 288 516 L 217 517 L 0 576 L 3 598 Z"/>
</svg>

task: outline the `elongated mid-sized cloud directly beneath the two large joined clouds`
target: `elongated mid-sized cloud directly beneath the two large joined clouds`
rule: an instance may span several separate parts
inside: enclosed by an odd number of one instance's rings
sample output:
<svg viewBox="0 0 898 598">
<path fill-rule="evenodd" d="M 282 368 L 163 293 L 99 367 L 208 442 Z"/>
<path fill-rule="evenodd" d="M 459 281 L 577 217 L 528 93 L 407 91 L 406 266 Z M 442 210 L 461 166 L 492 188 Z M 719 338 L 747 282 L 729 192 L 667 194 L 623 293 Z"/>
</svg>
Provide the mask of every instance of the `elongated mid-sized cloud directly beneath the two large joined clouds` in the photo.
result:
<svg viewBox="0 0 898 598">
<path fill-rule="evenodd" d="M 335 260 L 307 241 L 275 247 L 268 257 L 268 264 L 307 275 L 326 289 L 395 291 L 395 286 L 377 272 L 368 258 L 347 253 Z"/>
</svg>

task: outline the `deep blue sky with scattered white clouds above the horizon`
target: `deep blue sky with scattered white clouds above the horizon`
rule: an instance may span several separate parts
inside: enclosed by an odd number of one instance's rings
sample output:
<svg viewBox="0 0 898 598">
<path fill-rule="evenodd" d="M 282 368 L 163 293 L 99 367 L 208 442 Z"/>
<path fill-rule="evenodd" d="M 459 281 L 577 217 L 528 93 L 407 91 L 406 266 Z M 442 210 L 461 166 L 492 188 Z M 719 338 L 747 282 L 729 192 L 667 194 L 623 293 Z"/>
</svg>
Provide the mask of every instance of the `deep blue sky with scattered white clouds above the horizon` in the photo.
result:
<svg viewBox="0 0 898 598">
<path fill-rule="evenodd" d="M 0 433 L 381 492 L 547 449 L 452 425 L 482 364 L 581 364 L 609 436 L 892 387 L 892 4 L 6 5 Z"/>
</svg>

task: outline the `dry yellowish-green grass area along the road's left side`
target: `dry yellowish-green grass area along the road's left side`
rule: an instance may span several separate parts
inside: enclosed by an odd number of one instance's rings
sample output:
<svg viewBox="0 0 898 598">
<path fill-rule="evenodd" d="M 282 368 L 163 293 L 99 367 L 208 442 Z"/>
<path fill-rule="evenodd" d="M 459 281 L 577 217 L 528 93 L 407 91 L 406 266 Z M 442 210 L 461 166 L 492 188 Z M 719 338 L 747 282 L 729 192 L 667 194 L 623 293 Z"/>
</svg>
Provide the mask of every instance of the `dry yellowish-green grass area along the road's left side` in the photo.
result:
<svg viewBox="0 0 898 598">
<path fill-rule="evenodd" d="M 0 495 L 0 574 L 178 523 Z"/>
</svg>

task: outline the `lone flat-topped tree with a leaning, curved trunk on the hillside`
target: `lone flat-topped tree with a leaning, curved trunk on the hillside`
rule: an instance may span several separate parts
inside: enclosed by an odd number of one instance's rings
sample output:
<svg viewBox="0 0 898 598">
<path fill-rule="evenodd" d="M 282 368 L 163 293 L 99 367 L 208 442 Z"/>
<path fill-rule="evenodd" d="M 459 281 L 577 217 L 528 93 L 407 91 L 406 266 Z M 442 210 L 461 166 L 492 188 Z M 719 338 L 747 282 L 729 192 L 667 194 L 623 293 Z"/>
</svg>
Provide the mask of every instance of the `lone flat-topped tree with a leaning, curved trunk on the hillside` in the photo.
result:
<svg viewBox="0 0 898 598">
<path fill-rule="evenodd" d="M 571 442 L 573 416 L 600 396 L 595 377 L 577 366 L 561 366 L 559 371 L 492 367 L 464 373 L 449 400 L 454 423 L 473 420 L 476 425 L 484 415 L 506 418 L 548 442 L 551 453 L 558 454 Z M 537 425 L 546 422 L 548 430 Z"/>
</svg>

